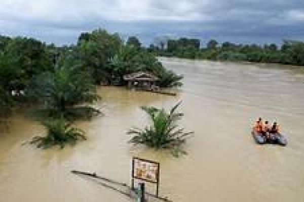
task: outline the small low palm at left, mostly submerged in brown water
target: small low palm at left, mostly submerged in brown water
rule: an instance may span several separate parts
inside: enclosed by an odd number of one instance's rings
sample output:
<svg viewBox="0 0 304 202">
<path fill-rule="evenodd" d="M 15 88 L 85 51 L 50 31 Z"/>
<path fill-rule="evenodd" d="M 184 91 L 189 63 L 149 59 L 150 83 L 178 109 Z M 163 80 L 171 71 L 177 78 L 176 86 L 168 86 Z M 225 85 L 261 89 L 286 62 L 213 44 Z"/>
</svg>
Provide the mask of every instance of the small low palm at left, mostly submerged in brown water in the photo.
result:
<svg viewBox="0 0 304 202">
<path fill-rule="evenodd" d="M 66 122 L 64 118 L 43 122 L 47 129 L 46 136 L 35 136 L 30 143 L 37 144 L 37 147 L 49 148 L 59 145 L 61 148 L 66 143 L 74 145 L 77 140 L 86 140 L 85 132 L 81 129 L 71 127 L 71 124 Z"/>
</svg>

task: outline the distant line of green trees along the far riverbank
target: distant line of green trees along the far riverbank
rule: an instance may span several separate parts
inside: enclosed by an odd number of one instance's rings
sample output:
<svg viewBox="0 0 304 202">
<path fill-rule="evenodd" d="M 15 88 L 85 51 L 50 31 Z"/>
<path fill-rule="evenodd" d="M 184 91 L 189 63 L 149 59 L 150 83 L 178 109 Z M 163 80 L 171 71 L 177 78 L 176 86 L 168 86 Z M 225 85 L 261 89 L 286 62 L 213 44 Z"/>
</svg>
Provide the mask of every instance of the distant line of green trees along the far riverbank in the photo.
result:
<svg viewBox="0 0 304 202">
<path fill-rule="evenodd" d="M 261 46 L 232 42 L 219 44 L 211 39 L 207 47 L 201 48 L 199 39 L 180 38 L 163 40 L 158 44 L 151 44 L 147 49 L 150 53 L 166 57 L 304 66 L 304 42 L 292 40 L 283 40 L 281 46 L 274 43 Z"/>
</svg>

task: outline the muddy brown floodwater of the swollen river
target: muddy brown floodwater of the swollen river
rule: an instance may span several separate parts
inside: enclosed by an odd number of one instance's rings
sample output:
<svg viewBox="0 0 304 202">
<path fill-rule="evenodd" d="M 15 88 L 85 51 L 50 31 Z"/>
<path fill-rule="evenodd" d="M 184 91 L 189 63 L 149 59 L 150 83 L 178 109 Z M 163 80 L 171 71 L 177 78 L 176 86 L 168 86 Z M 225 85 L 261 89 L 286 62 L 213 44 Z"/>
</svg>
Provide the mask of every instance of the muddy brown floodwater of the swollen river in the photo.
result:
<svg viewBox="0 0 304 202">
<path fill-rule="evenodd" d="M 161 195 L 173 201 L 304 201 L 304 72 L 298 67 L 160 59 L 184 75 L 178 96 L 100 87 L 104 112 L 77 123 L 87 141 L 41 150 L 22 145 L 43 127 L 16 114 L 0 135 L 1 202 L 131 201 L 70 173 L 96 172 L 130 182 L 131 158 L 160 162 Z M 181 124 L 195 131 L 173 158 L 127 143 L 131 126 L 147 123 L 140 106 L 169 108 L 183 100 Z M 257 117 L 278 121 L 286 147 L 256 145 L 250 135 Z"/>
</svg>

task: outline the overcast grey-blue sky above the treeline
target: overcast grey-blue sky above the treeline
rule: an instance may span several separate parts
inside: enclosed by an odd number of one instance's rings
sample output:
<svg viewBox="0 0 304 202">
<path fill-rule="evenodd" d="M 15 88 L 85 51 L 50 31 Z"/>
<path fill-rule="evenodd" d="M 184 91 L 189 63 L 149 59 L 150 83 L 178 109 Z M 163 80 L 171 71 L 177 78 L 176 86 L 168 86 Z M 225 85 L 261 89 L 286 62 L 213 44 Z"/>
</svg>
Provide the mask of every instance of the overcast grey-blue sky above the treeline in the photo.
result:
<svg viewBox="0 0 304 202">
<path fill-rule="evenodd" d="M 304 0 L 0 0 L 0 34 L 70 44 L 98 27 L 145 44 L 157 37 L 220 42 L 304 40 Z"/>
</svg>

